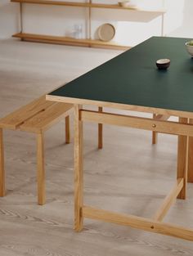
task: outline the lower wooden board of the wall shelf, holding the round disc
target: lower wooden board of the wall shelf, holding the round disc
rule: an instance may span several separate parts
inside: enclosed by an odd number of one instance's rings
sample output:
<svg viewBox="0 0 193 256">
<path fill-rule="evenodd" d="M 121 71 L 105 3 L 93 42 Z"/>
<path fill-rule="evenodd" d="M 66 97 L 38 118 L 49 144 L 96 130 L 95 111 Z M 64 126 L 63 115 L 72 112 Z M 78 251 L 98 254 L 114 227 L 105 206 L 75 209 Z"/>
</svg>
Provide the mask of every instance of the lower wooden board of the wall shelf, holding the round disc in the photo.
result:
<svg viewBox="0 0 193 256">
<path fill-rule="evenodd" d="M 74 46 L 84 46 L 84 47 L 104 47 L 112 48 L 119 50 L 128 50 L 129 46 L 119 45 L 115 42 L 102 42 L 100 40 L 91 40 L 91 39 L 76 39 L 76 38 L 67 38 L 61 36 L 51 36 L 51 35 L 42 35 L 42 34 L 25 34 L 18 33 L 13 34 L 14 38 L 21 38 L 25 41 L 32 41 L 38 43 L 56 43 L 56 44 L 66 44 Z"/>
</svg>

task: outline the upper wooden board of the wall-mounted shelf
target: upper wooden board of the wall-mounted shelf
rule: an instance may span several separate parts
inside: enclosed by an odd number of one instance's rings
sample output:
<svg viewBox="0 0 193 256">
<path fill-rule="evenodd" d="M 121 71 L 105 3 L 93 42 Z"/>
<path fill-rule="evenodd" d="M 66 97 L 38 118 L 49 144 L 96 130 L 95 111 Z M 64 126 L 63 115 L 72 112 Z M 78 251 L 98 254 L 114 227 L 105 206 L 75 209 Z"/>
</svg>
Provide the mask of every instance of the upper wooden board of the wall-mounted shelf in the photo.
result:
<svg viewBox="0 0 193 256">
<path fill-rule="evenodd" d="M 145 11 L 145 12 L 157 12 L 158 14 L 164 14 L 165 10 L 144 10 L 131 7 L 120 7 L 118 4 L 105 4 L 105 3 L 89 3 L 89 2 L 62 2 L 62 1 L 49 1 L 49 0 L 11 0 L 11 2 L 21 3 L 34 3 L 45 5 L 58 5 L 67 7 L 92 7 L 92 8 L 105 8 L 105 9 L 119 9 L 128 11 Z"/>
</svg>

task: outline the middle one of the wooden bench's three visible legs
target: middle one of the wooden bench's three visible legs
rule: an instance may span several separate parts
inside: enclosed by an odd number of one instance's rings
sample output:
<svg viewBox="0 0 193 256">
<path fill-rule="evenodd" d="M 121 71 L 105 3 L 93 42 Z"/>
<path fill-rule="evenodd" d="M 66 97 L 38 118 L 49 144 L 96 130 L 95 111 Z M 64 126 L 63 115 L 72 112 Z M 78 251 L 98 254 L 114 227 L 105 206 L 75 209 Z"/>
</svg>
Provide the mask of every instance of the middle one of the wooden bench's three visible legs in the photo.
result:
<svg viewBox="0 0 193 256">
<path fill-rule="evenodd" d="M 45 169 L 44 169 L 44 137 L 43 133 L 37 134 L 37 182 L 38 204 L 45 204 Z"/>
</svg>

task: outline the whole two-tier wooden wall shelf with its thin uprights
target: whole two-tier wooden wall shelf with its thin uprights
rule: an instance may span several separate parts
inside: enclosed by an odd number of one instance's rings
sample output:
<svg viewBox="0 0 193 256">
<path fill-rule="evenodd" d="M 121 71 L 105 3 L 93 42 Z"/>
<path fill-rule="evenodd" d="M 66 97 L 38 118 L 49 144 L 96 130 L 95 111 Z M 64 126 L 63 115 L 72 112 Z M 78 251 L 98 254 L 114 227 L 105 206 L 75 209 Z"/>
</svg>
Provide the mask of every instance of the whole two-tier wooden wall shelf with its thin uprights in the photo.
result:
<svg viewBox="0 0 193 256">
<path fill-rule="evenodd" d="M 112 48 L 119 50 L 127 50 L 130 47 L 120 45 L 113 41 L 103 42 L 100 40 L 93 40 L 91 37 L 91 10 L 92 8 L 105 8 L 105 9 L 114 9 L 114 10 L 124 10 L 124 11 L 136 11 L 136 12 L 150 12 L 155 13 L 156 16 L 162 16 L 162 32 L 164 34 L 164 9 L 160 10 L 141 10 L 131 7 L 120 7 L 119 4 L 105 4 L 105 3 L 94 3 L 92 0 L 88 2 L 63 2 L 63 1 L 52 1 L 52 0 L 11 0 L 11 2 L 20 3 L 20 33 L 14 34 L 13 37 L 21 38 L 25 41 L 38 42 L 38 43 L 56 43 L 56 44 L 66 44 L 66 45 L 75 45 L 83 47 L 104 47 Z M 64 7 L 86 7 L 88 8 L 88 38 L 76 39 L 68 38 L 63 36 L 52 36 L 52 35 L 43 35 L 43 34 L 27 34 L 23 33 L 23 22 L 22 22 L 22 4 L 41 4 L 41 5 L 55 5 L 55 6 L 64 6 Z"/>
</svg>

